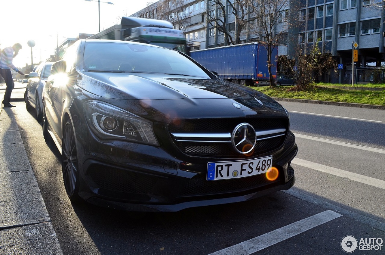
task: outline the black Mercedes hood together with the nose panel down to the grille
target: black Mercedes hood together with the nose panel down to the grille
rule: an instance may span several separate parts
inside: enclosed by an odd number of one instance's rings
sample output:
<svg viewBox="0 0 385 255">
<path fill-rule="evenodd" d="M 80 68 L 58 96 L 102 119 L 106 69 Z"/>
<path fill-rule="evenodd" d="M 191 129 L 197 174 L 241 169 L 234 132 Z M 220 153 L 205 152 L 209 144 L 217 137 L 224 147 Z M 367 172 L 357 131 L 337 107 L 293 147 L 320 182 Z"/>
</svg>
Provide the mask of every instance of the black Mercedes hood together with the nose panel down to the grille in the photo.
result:
<svg viewBox="0 0 385 255">
<path fill-rule="evenodd" d="M 82 73 L 77 85 L 97 99 L 139 116 L 154 112 L 186 118 L 245 117 L 255 114 L 287 117 L 283 107 L 254 89 L 223 80 L 182 75 Z M 158 119 L 152 116 L 151 119 Z M 161 119 L 158 119 L 161 120 Z"/>
</svg>

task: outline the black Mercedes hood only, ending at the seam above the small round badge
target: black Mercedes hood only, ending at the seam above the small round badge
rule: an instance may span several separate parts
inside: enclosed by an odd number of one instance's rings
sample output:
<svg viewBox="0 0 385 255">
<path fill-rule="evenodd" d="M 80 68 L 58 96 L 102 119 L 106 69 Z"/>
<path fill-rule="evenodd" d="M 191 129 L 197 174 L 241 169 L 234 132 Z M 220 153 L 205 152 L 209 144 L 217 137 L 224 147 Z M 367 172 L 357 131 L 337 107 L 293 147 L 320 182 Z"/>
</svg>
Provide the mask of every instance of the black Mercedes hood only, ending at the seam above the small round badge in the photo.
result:
<svg viewBox="0 0 385 255">
<path fill-rule="evenodd" d="M 80 87 L 110 99 L 242 99 L 273 101 L 270 97 L 223 80 L 167 74 L 84 73 Z M 107 92 L 107 93 L 106 93 Z"/>
</svg>

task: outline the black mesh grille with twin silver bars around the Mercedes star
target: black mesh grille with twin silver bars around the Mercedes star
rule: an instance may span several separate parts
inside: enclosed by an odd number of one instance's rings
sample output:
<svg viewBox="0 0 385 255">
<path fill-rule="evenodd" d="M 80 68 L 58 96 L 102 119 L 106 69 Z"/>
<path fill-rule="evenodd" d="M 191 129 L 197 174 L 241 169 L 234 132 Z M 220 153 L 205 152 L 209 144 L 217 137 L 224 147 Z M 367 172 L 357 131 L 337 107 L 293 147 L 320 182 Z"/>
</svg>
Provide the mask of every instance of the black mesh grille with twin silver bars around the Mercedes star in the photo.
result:
<svg viewBox="0 0 385 255">
<path fill-rule="evenodd" d="M 256 131 L 257 141 L 251 156 L 283 145 L 288 131 L 288 121 L 283 118 L 184 120 L 179 125 L 170 124 L 169 132 L 183 153 L 203 157 L 238 157 L 240 154 L 231 144 L 231 134 L 243 122 L 251 124 Z"/>
</svg>

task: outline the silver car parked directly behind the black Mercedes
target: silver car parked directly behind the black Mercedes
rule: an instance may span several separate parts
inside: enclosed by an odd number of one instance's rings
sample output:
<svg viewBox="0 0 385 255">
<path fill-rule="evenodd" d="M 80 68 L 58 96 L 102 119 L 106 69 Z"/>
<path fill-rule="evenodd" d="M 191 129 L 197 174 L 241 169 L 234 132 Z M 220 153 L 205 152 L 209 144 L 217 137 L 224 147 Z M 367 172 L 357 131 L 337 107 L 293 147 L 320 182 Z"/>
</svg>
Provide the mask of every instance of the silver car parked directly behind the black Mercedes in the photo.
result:
<svg viewBox="0 0 385 255">
<path fill-rule="evenodd" d="M 27 110 L 36 110 L 37 121 L 42 120 L 42 92 L 47 78 L 51 74 L 51 66 L 54 62 L 42 62 L 35 72 L 28 74 L 27 86 L 25 87 L 24 101 Z M 23 82 L 24 83 L 24 82 Z"/>
</svg>

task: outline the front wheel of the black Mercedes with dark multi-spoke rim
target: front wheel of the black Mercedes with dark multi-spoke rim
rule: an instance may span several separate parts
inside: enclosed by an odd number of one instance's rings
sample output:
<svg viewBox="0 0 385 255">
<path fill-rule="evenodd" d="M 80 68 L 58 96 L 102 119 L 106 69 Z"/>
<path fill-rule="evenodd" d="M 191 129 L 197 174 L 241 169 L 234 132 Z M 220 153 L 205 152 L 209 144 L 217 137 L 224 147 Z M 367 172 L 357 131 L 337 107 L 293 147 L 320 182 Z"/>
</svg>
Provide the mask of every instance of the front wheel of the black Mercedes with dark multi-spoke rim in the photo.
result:
<svg viewBox="0 0 385 255">
<path fill-rule="evenodd" d="M 68 120 L 64 125 L 62 139 L 62 172 L 65 191 L 72 202 L 80 200 L 79 197 L 79 164 L 74 128 Z"/>
</svg>

